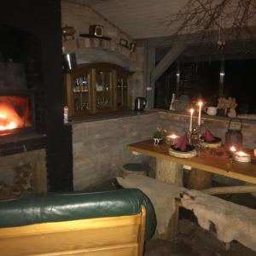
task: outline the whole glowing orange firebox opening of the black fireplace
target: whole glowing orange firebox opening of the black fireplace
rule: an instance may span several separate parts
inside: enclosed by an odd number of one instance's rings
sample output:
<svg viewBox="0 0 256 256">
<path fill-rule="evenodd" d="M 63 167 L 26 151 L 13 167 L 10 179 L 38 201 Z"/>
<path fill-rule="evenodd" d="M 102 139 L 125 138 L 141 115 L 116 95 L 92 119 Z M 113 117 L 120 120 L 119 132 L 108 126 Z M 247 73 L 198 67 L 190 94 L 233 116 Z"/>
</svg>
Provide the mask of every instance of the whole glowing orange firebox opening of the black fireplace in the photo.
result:
<svg viewBox="0 0 256 256">
<path fill-rule="evenodd" d="M 0 135 L 32 128 L 32 92 L 15 90 L 13 93 L 0 95 Z"/>
</svg>

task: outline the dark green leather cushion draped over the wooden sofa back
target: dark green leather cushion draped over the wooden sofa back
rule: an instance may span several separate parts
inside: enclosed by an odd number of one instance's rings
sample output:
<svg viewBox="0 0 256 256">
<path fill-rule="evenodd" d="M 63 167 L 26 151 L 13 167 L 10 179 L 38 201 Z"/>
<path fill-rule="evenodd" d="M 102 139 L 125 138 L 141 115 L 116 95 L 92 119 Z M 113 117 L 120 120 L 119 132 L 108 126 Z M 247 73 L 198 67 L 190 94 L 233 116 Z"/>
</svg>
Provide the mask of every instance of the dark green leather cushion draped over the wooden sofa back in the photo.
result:
<svg viewBox="0 0 256 256">
<path fill-rule="evenodd" d="M 139 189 L 94 193 L 46 193 L 0 201 L 0 227 L 62 222 L 84 218 L 135 215 L 146 208 L 145 240 L 154 235 L 154 207 Z"/>
</svg>

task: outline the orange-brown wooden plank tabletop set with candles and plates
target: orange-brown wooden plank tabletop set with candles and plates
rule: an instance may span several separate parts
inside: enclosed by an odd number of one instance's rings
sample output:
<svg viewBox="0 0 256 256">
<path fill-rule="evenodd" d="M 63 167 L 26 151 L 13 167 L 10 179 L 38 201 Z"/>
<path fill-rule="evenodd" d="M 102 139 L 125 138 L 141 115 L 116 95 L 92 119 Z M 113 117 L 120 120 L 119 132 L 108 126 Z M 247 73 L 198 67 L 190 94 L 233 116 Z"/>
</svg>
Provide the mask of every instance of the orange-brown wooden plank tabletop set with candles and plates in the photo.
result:
<svg viewBox="0 0 256 256">
<path fill-rule="evenodd" d="M 155 157 L 157 160 L 169 161 L 179 166 L 191 166 L 207 173 L 216 173 L 225 177 L 233 177 L 247 183 L 256 184 L 256 158 L 253 150 L 247 149 L 252 154 L 251 163 L 232 162 L 225 154 L 224 148 L 218 148 L 218 155 L 212 154 L 210 150 L 200 152 L 196 157 L 190 159 L 177 158 L 168 154 L 170 145 L 165 143 L 154 146 L 153 140 L 132 143 L 127 146 L 129 150 Z M 213 150 L 213 149 L 212 149 Z"/>
</svg>

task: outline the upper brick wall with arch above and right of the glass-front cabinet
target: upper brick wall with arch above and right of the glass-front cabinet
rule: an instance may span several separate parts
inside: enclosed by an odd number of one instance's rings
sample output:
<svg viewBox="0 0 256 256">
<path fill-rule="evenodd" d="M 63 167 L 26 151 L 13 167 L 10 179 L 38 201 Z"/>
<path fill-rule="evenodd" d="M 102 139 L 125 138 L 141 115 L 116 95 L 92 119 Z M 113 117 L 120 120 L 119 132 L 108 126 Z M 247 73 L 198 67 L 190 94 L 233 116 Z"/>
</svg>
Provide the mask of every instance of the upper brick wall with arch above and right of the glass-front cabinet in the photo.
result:
<svg viewBox="0 0 256 256">
<path fill-rule="evenodd" d="M 61 24 L 62 26 L 73 26 L 76 30 L 75 38 L 80 33 L 89 33 L 90 25 L 102 25 L 103 35 L 111 38 L 111 45 L 119 45 L 120 38 L 125 38 L 129 43 L 132 38 L 122 32 L 119 27 L 113 25 L 109 20 L 98 14 L 95 10 L 80 3 L 70 3 L 68 0 L 61 1 Z M 120 47 L 120 46 L 118 46 Z M 127 52 L 127 49 L 126 49 Z M 131 79 L 131 99 L 137 96 L 145 96 L 143 89 L 143 56 L 144 48 L 137 48 L 134 55 L 124 55 L 124 51 L 104 49 L 103 47 L 86 47 L 75 50 L 77 61 L 82 63 L 111 62 L 125 67 L 135 73 Z"/>
</svg>

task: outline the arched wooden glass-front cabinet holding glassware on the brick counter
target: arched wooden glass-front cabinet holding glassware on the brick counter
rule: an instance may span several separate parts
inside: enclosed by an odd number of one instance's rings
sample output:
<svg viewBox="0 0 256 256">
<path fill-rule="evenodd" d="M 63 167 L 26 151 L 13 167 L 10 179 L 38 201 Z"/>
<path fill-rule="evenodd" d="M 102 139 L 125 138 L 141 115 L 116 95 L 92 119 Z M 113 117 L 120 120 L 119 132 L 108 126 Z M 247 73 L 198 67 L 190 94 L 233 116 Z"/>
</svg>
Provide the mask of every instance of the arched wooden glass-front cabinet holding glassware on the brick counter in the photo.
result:
<svg viewBox="0 0 256 256">
<path fill-rule="evenodd" d="M 69 118 L 131 108 L 132 73 L 111 63 L 93 63 L 64 74 Z"/>
</svg>

